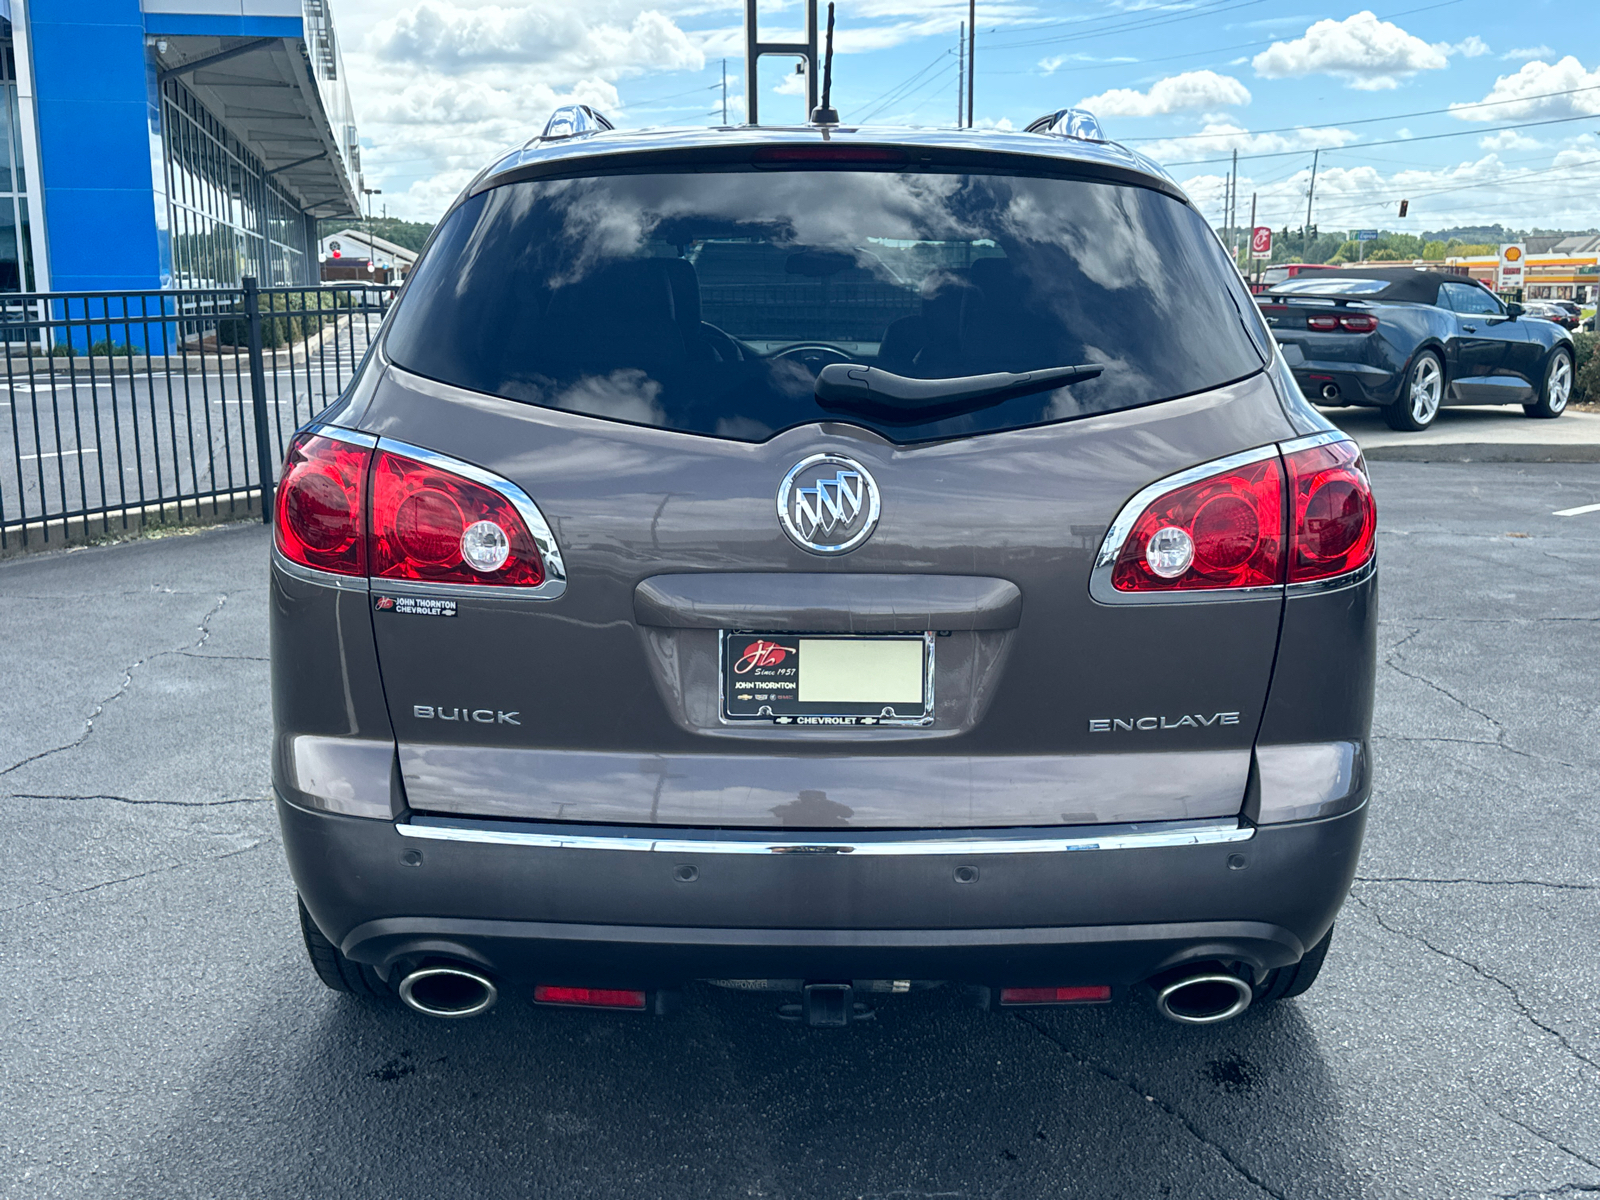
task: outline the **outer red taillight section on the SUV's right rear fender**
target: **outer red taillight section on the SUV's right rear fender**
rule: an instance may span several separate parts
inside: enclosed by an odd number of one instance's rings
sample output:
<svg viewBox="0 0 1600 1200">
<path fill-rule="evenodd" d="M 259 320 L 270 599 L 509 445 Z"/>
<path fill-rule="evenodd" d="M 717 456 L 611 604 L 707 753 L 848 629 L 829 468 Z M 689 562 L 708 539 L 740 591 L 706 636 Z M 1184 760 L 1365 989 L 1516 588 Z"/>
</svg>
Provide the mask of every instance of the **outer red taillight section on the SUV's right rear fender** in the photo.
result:
<svg viewBox="0 0 1600 1200">
<path fill-rule="evenodd" d="M 1290 475 L 1294 536 L 1290 582 L 1326 579 L 1365 566 L 1378 538 L 1378 506 L 1362 451 L 1352 442 L 1283 456 Z"/>
</svg>

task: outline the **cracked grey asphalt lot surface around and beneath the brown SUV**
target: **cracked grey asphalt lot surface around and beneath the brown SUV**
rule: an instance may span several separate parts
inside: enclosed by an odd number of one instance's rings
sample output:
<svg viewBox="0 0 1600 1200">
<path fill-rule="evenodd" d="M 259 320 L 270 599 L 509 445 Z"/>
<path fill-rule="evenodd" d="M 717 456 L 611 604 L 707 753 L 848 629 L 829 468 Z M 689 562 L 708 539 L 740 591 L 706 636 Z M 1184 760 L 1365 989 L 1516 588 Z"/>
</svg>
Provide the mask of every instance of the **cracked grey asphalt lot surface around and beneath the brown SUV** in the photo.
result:
<svg viewBox="0 0 1600 1200">
<path fill-rule="evenodd" d="M 266 533 L 0 563 L 5 1197 L 1600 1192 L 1600 464 L 1373 467 L 1378 782 L 1318 986 L 1214 1029 L 805 1030 L 326 992 L 267 774 Z"/>
</svg>

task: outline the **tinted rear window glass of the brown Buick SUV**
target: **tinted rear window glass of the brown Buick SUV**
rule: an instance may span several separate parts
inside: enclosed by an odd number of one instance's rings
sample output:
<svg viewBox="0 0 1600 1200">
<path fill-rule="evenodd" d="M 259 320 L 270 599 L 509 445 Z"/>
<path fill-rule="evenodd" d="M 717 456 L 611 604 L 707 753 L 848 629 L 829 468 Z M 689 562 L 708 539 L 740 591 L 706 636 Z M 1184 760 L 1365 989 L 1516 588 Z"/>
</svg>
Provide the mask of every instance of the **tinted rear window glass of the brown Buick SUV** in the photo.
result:
<svg viewBox="0 0 1600 1200">
<path fill-rule="evenodd" d="M 762 442 L 853 421 L 894 442 L 1107 413 L 1261 370 L 1205 222 L 1160 192 L 886 171 L 616 174 L 456 208 L 386 349 L 459 387 Z M 829 363 L 917 379 L 1098 363 L 939 419 L 819 406 Z"/>
</svg>

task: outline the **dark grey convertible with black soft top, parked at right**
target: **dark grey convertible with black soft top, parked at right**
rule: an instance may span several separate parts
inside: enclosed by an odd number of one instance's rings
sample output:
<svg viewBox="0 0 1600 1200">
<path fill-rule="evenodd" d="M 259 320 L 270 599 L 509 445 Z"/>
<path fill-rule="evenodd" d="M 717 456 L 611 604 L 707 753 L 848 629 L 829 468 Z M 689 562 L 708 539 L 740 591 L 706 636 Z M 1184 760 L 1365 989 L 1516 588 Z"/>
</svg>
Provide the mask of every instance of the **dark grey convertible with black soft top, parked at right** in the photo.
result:
<svg viewBox="0 0 1600 1200">
<path fill-rule="evenodd" d="M 1306 395 L 1427 429 L 1443 405 L 1522 405 L 1554 418 L 1573 392 L 1573 339 L 1474 280 L 1421 267 L 1346 269 L 1258 296 Z"/>
</svg>

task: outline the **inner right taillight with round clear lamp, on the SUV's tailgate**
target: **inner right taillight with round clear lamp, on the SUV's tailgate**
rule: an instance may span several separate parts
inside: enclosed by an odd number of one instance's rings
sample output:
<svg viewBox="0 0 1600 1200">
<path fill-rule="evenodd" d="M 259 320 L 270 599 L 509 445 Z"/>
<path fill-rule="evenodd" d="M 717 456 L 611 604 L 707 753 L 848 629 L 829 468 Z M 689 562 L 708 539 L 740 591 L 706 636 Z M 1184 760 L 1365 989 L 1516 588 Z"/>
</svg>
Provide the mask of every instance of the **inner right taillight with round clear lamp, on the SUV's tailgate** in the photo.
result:
<svg viewBox="0 0 1600 1200">
<path fill-rule="evenodd" d="M 1262 587 L 1283 581 L 1283 469 L 1277 456 L 1155 499 L 1117 555 L 1118 592 Z"/>
</svg>

